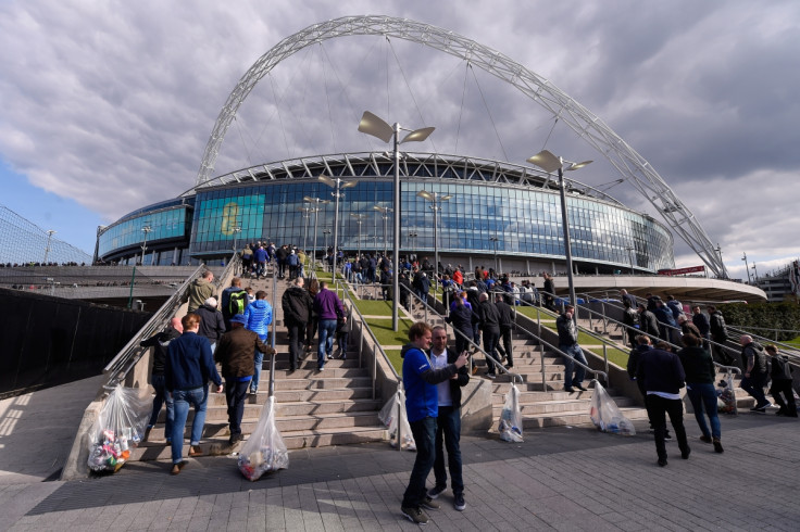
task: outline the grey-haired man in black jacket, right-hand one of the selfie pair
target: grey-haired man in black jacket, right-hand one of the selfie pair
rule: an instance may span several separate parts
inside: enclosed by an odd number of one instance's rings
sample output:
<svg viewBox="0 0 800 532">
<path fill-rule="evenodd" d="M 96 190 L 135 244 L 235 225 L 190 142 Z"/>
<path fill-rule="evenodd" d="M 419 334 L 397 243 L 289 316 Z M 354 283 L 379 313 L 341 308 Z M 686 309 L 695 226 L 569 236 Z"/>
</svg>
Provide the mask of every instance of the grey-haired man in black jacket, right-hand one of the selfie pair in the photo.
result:
<svg viewBox="0 0 800 532">
<path fill-rule="evenodd" d="M 454 364 L 459 354 L 448 349 L 447 331 L 443 327 L 434 327 L 434 345 L 428 353 L 430 367 L 434 369 L 445 368 Z M 462 511 L 466 508 L 464 503 L 464 480 L 461 473 L 461 389 L 470 382 L 470 372 L 466 366 L 459 368 L 458 372 L 445 382 L 437 384 L 439 394 L 439 417 L 436 429 L 436 461 L 434 461 L 434 474 L 436 485 L 428 491 L 430 498 L 437 498 L 447 489 L 447 471 L 445 469 L 443 447 L 447 448 L 448 469 L 450 470 L 450 484 L 453 489 L 453 506 Z"/>
</svg>

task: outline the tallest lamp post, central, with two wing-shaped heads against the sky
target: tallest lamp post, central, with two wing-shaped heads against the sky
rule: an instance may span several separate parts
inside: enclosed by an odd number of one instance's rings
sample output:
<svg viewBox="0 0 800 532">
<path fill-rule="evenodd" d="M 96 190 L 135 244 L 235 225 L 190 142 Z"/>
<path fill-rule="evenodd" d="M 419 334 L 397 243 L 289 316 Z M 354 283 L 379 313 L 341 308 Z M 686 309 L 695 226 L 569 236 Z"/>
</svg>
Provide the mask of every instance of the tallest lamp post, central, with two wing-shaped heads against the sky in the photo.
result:
<svg viewBox="0 0 800 532">
<path fill-rule="evenodd" d="M 390 126 L 386 122 L 384 122 L 378 116 L 372 114 L 368 111 L 364 111 L 364 114 L 361 116 L 361 122 L 359 123 L 359 131 L 365 132 L 367 135 L 372 135 L 373 137 L 376 137 L 384 142 L 389 142 L 392 138 L 395 139 L 395 150 L 393 150 L 393 160 L 395 160 L 395 188 L 393 188 L 393 198 L 392 198 L 392 205 L 395 207 L 395 223 L 393 225 L 393 233 L 395 238 L 392 239 L 392 252 L 395 255 L 393 265 L 395 265 L 395 275 L 391 276 L 392 279 L 392 294 L 393 297 L 391 299 L 391 328 L 395 332 L 398 330 L 398 313 L 399 313 L 399 301 L 400 297 L 398 296 L 400 294 L 400 276 L 397 275 L 397 268 L 400 264 L 400 150 L 399 147 L 403 142 L 422 142 L 425 139 L 427 139 L 432 132 L 434 132 L 434 127 L 424 127 L 422 129 L 405 129 L 400 127 L 400 124 L 395 123 L 393 126 Z M 399 139 L 400 131 L 410 131 L 403 140 Z"/>
</svg>

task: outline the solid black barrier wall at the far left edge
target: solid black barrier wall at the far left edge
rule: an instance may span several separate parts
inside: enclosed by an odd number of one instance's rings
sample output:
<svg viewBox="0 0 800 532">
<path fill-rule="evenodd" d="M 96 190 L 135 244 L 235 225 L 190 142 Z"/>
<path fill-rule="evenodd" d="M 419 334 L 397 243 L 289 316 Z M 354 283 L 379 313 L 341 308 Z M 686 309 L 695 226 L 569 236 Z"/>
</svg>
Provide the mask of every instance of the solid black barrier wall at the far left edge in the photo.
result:
<svg viewBox="0 0 800 532">
<path fill-rule="evenodd" d="M 152 313 L 0 289 L 0 394 L 99 375 Z"/>
</svg>

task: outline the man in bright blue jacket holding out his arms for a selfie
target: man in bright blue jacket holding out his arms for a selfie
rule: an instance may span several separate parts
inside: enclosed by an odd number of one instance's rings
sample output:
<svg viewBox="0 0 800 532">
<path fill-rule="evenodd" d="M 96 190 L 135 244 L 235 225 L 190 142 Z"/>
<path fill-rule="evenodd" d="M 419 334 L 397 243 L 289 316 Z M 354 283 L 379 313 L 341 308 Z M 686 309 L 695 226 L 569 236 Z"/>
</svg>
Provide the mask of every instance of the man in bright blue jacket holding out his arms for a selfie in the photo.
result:
<svg viewBox="0 0 800 532">
<path fill-rule="evenodd" d="M 436 460 L 436 418 L 439 415 L 439 392 L 436 384 L 457 377 L 458 370 L 466 365 L 466 355 L 462 353 L 453 364 L 434 369 L 425 354 L 430 349 L 432 339 L 430 326 L 417 321 L 409 329 L 410 343 L 400 355 L 403 357 L 405 413 L 416 443 L 416 459 L 400 510 L 417 524 L 428 522 L 423 507 L 439 508 L 425 491 L 425 480 Z"/>
</svg>

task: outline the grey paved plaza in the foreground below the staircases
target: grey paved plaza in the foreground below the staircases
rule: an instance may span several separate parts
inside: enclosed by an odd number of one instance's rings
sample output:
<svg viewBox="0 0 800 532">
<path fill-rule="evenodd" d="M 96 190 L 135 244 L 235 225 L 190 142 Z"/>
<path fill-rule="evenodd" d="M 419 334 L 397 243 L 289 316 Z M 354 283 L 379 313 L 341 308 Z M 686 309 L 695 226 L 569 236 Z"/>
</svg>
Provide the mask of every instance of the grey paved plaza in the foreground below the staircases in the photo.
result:
<svg viewBox="0 0 800 532">
<path fill-rule="evenodd" d="M 59 390 L 79 385 L 35 392 L 25 404 L 45 408 Z M 37 394 L 49 398 L 37 401 Z M 67 414 L 71 407 L 65 405 Z M 190 459 L 177 477 L 166 463 L 132 463 L 111 477 L 62 482 L 48 470 L 58 466 L 46 448 L 48 428 L 34 430 L 25 417 L 28 429 L 17 421 L 7 430 L 9 411 L 0 432 L 0 530 L 418 528 L 400 514 L 414 453 L 388 444 L 295 451 L 288 469 L 258 482 L 247 481 L 233 457 Z M 697 440 L 693 416 L 685 420 L 691 456 L 680 459 L 677 444 L 668 442 L 665 468 L 655 465 L 647 423 L 637 423 L 632 438 L 586 427 L 528 431 L 520 444 L 464 438 L 466 510 L 453 509 L 448 490 L 438 499 L 442 508 L 428 512 L 426 529 L 800 529 L 797 420 L 725 416 L 722 455 Z M 33 456 L 37 464 L 22 463 Z M 25 472 L 25 466 L 32 469 Z M 429 485 L 432 480 L 433 473 Z"/>
</svg>

